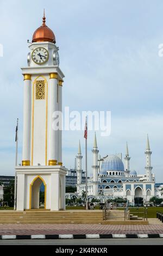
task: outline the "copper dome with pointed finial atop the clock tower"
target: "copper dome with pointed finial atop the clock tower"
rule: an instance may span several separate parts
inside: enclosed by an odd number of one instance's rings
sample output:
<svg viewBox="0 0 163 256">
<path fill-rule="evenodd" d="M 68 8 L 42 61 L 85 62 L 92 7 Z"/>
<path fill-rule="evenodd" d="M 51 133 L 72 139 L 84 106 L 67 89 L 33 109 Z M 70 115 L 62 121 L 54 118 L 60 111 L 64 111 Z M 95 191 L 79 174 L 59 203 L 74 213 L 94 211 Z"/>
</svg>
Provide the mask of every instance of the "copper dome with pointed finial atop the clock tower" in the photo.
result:
<svg viewBox="0 0 163 256">
<path fill-rule="evenodd" d="M 55 35 L 53 31 L 48 28 L 45 24 L 46 17 L 45 12 L 43 14 L 42 18 L 42 26 L 36 29 L 36 31 L 33 34 L 32 42 L 54 42 L 55 44 Z"/>
</svg>

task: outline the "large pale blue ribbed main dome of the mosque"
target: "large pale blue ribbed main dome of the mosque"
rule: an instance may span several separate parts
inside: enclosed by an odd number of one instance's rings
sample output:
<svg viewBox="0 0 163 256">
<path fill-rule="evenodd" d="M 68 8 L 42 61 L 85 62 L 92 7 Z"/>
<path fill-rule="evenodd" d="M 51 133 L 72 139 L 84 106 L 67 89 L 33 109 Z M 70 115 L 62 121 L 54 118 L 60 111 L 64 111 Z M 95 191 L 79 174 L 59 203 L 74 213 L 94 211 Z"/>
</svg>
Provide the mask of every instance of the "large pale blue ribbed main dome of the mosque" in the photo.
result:
<svg viewBox="0 0 163 256">
<path fill-rule="evenodd" d="M 116 155 L 110 155 L 102 163 L 101 174 L 106 174 L 108 170 L 120 170 L 124 171 L 123 162 L 120 157 Z"/>
</svg>

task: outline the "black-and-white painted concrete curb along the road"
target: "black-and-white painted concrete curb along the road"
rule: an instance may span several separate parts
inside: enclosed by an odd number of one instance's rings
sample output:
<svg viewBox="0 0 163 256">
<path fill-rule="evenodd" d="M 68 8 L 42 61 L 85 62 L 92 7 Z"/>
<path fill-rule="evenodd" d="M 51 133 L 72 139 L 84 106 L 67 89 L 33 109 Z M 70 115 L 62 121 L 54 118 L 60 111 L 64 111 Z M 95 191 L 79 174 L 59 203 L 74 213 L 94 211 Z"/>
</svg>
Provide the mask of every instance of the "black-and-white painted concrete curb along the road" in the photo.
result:
<svg viewBox="0 0 163 256">
<path fill-rule="evenodd" d="M 163 238 L 163 234 L 0 235 L 0 240 Z"/>
</svg>

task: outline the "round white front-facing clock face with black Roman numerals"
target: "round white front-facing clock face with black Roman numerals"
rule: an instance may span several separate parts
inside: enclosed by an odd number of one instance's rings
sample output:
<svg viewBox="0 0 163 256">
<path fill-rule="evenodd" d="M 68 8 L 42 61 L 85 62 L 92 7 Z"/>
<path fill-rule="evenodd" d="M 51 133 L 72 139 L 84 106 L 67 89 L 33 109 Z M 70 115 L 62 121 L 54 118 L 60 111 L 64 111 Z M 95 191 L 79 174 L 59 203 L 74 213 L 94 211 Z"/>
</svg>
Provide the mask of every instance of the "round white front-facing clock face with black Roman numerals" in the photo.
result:
<svg viewBox="0 0 163 256">
<path fill-rule="evenodd" d="M 32 52 L 32 59 L 36 64 L 44 64 L 49 58 L 48 51 L 43 47 L 35 48 Z"/>
</svg>

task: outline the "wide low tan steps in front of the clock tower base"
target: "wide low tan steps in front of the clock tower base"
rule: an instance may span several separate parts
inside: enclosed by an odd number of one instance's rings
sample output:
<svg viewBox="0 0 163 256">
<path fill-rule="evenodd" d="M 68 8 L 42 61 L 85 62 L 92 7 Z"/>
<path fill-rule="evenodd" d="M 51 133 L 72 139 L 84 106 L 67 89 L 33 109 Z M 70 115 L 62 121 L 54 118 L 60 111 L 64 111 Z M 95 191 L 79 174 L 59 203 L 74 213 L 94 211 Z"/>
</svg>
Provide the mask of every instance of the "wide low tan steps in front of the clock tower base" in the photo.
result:
<svg viewBox="0 0 163 256">
<path fill-rule="evenodd" d="M 102 224 L 101 210 L 0 211 L 0 224 Z"/>
</svg>

